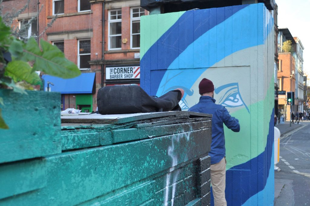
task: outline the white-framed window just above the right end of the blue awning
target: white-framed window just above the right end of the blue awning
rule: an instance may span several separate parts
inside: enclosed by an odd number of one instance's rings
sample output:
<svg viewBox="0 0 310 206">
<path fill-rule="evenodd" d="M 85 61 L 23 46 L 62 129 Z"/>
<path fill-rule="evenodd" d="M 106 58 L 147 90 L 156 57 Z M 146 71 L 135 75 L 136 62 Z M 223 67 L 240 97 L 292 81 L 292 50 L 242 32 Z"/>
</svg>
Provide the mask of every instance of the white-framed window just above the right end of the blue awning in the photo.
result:
<svg viewBox="0 0 310 206">
<path fill-rule="evenodd" d="M 88 61 L 91 60 L 91 40 L 78 40 L 78 68 L 81 70 L 90 69 Z"/>
</svg>

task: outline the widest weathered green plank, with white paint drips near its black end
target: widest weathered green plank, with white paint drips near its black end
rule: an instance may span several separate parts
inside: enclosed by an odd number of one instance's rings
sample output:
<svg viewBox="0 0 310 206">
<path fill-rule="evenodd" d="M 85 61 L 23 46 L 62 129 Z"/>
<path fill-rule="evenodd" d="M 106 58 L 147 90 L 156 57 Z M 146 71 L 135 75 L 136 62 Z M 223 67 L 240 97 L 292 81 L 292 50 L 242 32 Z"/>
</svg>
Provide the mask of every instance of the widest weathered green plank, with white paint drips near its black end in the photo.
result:
<svg viewBox="0 0 310 206">
<path fill-rule="evenodd" d="M 210 128 L 46 158 L 47 187 L 5 205 L 75 205 L 181 165 L 210 150 Z M 16 163 L 18 164 L 18 163 Z"/>
</svg>

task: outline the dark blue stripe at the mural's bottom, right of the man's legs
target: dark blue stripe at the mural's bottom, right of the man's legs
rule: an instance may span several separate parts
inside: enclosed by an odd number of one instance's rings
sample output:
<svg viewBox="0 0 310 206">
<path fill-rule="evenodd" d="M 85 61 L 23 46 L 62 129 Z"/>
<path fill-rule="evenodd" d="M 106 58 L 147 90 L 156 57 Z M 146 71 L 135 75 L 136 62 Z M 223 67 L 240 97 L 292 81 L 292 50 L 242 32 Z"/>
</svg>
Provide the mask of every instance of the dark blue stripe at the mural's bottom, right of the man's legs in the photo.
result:
<svg viewBox="0 0 310 206">
<path fill-rule="evenodd" d="M 268 193 L 273 191 L 272 188 L 265 188 L 270 171 L 273 172 L 273 125 L 274 110 L 272 110 L 269 122 L 269 133 L 265 150 L 257 157 L 226 171 L 225 193 L 227 205 L 241 206 L 260 191 L 266 190 Z M 273 181 L 273 179 L 269 181 Z M 268 197 L 268 195 L 266 196 Z M 273 203 L 273 197 L 269 197 L 269 199 L 253 199 L 252 205 L 270 205 Z M 214 205 L 212 192 L 211 205 Z"/>
</svg>

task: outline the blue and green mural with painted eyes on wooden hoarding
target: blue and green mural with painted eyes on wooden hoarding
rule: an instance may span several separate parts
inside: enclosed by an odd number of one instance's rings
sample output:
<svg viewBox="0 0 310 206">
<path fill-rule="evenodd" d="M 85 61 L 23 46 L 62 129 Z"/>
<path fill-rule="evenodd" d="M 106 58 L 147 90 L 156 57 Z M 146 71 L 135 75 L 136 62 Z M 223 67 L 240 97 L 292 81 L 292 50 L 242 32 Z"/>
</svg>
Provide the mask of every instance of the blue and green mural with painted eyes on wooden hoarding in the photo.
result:
<svg viewBox="0 0 310 206">
<path fill-rule="evenodd" d="M 273 14 L 263 3 L 141 17 L 141 87 L 183 88 L 187 110 L 208 78 L 214 98 L 239 119 L 225 128 L 228 205 L 273 205 Z"/>
</svg>

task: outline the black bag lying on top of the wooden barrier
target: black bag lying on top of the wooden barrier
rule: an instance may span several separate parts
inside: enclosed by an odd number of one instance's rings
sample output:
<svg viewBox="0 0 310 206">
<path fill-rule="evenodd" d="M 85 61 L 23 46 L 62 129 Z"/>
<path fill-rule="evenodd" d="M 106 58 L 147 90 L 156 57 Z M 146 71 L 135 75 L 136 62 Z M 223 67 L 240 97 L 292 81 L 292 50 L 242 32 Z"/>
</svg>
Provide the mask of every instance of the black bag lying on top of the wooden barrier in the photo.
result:
<svg viewBox="0 0 310 206">
<path fill-rule="evenodd" d="M 181 111 L 181 92 L 172 90 L 160 97 L 149 96 L 137 85 L 102 87 L 97 93 L 100 114 L 132 114 Z"/>
</svg>

